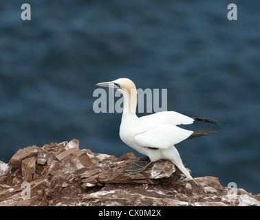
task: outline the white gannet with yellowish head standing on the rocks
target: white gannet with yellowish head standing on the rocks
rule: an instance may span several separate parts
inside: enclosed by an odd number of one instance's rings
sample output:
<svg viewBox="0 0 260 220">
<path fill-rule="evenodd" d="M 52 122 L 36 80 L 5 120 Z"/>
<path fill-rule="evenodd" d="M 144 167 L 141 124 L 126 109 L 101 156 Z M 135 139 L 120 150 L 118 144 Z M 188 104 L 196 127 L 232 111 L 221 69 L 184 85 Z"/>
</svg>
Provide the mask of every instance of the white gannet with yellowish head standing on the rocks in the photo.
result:
<svg viewBox="0 0 260 220">
<path fill-rule="evenodd" d="M 188 131 L 178 127 L 180 124 L 192 124 L 194 121 L 218 124 L 217 120 L 206 118 L 190 118 L 175 111 L 160 111 L 140 118 L 136 115 L 138 94 L 136 85 L 129 78 L 118 78 L 111 82 L 98 83 L 100 87 L 111 87 L 120 91 L 124 97 L 124 108 L 120 124 L 120 138 L 122 142 L 131 146 L 142 155 L 149 157 L 151 162 L 145 166 L 136 164 L 135 169 L 127 170 L 129 175 L 142 173 L 149 166 L 160 159 L 169 159 L 188 180 L 193 180 L 184 167 L 175 144 L 194 137 L 210 135 L 215 131 Z M 196 182 L 196 181 L 195 181 Z"/>
</svg>

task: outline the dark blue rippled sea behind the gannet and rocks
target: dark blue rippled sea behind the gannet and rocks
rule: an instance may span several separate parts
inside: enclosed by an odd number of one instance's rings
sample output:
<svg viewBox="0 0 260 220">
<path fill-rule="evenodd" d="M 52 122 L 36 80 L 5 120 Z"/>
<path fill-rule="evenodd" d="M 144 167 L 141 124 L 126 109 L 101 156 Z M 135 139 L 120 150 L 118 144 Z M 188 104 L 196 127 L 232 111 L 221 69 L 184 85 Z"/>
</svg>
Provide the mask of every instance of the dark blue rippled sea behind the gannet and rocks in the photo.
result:
<svg viewBox="0 0 260 220">
<path fill-rule="evenodd" d="M 93 110 L 96 83 L 127 77 L 167 89 L 168 110 L 221 123 L 189 125 L 218 132 L 176 145 L 193 177 L 260 193 L 259 0 L 29 0 L 30 21 L 23 3 L 0 3 L 0 160 L 74 138 L 95 153 L 133 151 L 121 114 Z"/>
</svg>

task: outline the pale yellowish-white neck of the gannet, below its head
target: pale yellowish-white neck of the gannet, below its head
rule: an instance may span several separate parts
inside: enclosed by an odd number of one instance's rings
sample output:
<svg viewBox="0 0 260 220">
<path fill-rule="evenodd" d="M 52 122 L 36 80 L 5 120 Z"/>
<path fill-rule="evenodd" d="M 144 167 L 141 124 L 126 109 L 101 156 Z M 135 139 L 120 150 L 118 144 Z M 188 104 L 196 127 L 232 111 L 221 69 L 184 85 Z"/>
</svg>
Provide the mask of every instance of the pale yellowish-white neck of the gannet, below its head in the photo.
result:
<svg viewBox="0 0 260 220">
<path fill-rule="evenodd" d="M 123 114 L 133 114 L 136 115 L 136 105 L 138 102 L 136 89 L 131 89 L 131 91 L 124 91 L 124 110 Z"/>
</svg>

